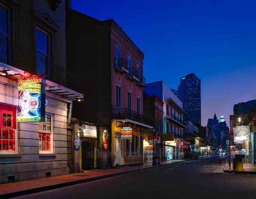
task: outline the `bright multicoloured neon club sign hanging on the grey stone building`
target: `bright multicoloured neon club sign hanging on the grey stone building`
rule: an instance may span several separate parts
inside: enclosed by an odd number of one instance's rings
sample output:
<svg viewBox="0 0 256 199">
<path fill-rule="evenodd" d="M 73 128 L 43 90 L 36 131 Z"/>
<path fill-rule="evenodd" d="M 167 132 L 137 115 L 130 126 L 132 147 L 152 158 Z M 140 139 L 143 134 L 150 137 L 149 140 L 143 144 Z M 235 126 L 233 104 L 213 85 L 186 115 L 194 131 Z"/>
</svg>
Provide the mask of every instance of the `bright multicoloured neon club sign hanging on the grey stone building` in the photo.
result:
<svg viewBox="0 0 256 199">
<path fill-rule="evenodd" d="M 19 79 L 18 122 L 45 121 L 45 80 L 41 76 Z"/>
</svg>

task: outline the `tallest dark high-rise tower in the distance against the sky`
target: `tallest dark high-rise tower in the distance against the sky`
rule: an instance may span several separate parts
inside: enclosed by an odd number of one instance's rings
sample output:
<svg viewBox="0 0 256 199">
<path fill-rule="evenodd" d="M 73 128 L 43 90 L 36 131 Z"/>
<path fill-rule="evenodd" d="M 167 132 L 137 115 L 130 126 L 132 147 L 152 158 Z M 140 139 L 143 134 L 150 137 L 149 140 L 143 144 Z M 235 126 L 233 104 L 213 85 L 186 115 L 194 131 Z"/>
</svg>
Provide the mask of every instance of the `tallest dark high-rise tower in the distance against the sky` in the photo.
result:
<svg viewBox="0 0 256 199">
<path fill-rule="evenodd" d="M 181 77 L 178 87 L 178 98 L 183 103 L 183 110 L 188 120 L 195 125 L 201 125 L 201 80 L 190 73 Z"/>
</svg>

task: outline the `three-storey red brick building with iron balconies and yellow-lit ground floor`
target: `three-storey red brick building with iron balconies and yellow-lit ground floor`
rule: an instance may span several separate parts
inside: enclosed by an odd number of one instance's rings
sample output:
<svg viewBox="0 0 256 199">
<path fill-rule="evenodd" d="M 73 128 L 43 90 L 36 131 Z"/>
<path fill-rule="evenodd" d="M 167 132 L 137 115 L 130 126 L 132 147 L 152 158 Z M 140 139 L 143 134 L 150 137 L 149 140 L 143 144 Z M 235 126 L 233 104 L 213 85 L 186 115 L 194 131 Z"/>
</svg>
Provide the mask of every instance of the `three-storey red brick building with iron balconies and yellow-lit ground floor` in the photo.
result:
<svg viewBox="0 0 256 199">
<path fill-rule="evenodd" d="M 144 54 L 114 20 L 71 9 L 67 38 L 67 67 L 84 77 L 86 93 L 79 106 L 74 102 L 72 117 L 99 127 L 97 168 L 143 164 L 143 131 L 153 128 L 153 119 L 143 115 Z"/>
</svg>

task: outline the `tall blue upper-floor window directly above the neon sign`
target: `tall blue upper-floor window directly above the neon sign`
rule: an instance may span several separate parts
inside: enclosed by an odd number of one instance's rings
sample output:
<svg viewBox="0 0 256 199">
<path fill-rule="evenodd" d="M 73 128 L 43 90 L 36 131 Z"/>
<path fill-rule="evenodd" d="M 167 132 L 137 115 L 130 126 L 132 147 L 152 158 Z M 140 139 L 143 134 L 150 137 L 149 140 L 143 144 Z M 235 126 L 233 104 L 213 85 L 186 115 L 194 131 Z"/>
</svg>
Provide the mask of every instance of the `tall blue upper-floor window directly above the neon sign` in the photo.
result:
<svg viewBox="0 0 256 199">
<path fill-rule="evenodd" d="M 43 29 L 36 28 L 37 74 L 51 74 L 50 35 Z"/>
</svg>

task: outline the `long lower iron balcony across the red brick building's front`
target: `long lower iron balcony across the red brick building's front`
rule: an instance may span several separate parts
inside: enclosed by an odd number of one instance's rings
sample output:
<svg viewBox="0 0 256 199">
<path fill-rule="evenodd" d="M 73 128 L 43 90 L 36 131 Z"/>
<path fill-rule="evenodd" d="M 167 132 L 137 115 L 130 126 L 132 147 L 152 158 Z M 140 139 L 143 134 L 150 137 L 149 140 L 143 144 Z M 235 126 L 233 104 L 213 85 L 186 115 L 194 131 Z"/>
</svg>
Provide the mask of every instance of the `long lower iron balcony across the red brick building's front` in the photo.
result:
<svg viewBox="0 0 256 199">
<path fill-rule="evenodd" d="M 154 126 L 154 121 L 152 118 L 140 114 L 136 111 L 132 111 L 128 108 L 112 109 L 112 119 L 118 119 L 120 121 L 128 119 L 145 125 Z"/>
</svg>

